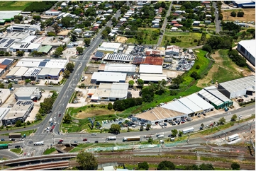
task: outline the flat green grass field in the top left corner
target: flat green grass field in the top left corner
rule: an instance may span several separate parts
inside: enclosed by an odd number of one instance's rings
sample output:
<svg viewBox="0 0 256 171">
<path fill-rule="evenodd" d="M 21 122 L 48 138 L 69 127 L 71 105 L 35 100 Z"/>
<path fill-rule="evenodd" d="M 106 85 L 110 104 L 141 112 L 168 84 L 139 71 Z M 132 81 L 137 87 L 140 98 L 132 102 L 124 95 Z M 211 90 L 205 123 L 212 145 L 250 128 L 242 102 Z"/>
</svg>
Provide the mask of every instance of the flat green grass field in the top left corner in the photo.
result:
<svg viewBox="0 0 256 171">
<path fill-rule="evenodd" d="M 0 11 L 23 11 L 33 1 L 0 1 Z"/>
</svg>

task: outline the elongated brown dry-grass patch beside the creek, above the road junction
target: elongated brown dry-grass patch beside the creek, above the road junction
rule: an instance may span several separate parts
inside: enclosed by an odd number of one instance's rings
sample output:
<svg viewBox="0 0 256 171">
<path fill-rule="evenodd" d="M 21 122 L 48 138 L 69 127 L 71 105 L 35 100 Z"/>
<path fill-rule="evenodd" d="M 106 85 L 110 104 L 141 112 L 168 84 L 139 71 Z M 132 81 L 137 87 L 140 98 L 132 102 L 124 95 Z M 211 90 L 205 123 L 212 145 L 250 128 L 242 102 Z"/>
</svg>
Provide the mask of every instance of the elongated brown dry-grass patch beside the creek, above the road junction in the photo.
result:
<svg viewBox="0 0 256 171">
<path fill-rule="evenodd" d="M 102 109 L 95 109 L 95 110 L 85 110 L 83 112 L 79 112 L 76 114 L 75 117 L 79 119 L 84 119 L 87 117 L 96 117 L 100 115 L 107 115 L 107 114 L 113 114 L 113 110 L 102 110 Z"/>
</svg>

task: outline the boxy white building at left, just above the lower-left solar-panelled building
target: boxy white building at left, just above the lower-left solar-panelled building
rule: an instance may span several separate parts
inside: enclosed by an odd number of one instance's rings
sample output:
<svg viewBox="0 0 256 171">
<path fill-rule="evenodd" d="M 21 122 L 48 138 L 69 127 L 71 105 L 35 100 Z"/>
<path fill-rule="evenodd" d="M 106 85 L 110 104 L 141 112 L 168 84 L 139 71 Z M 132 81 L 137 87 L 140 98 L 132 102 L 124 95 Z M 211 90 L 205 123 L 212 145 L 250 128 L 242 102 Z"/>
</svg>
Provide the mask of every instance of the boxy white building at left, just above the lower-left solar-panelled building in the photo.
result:
<svg viewBox="0 0 256 171">
<path fill-rule="evenodd" d="M 21 87 L 14 95 L 16 100 L 40 100 L 42 93 L 37 87 Z"/>
</svg>

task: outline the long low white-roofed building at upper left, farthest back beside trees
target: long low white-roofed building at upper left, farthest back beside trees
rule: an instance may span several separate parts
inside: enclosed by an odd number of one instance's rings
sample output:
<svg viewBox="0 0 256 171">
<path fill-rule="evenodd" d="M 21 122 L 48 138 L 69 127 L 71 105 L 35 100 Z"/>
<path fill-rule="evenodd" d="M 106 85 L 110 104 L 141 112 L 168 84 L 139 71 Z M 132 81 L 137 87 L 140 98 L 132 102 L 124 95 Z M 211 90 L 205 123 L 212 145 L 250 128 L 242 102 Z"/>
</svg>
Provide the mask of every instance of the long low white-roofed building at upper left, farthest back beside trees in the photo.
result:
<svg viewBox="0 0 256 171">
<path fill-rule="evenodd" d="M 13 24 L 6 28 L 7 32 L 34 32 L 36 30 L 41 30 L 40 25 L 30 25 L 30 24 Z"/>
</svg>

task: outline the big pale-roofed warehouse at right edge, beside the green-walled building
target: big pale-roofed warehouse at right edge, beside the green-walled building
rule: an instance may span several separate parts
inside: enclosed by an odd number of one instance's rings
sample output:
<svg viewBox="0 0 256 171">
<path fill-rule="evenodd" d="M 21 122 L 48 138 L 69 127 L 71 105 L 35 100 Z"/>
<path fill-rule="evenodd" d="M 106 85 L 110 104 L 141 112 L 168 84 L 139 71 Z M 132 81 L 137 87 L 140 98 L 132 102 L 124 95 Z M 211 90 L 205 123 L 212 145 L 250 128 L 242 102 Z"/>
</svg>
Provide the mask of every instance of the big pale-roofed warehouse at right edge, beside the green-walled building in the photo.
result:
<svg viewBox="0 0 256 171">
<path fill-rule="evenodd" d="M 252 95 L 252 93 L 255 93 L 255 76 L 247 76 L 219 83 L 218 90 L 229 99 L 243 95 Z"/>
</svg>

